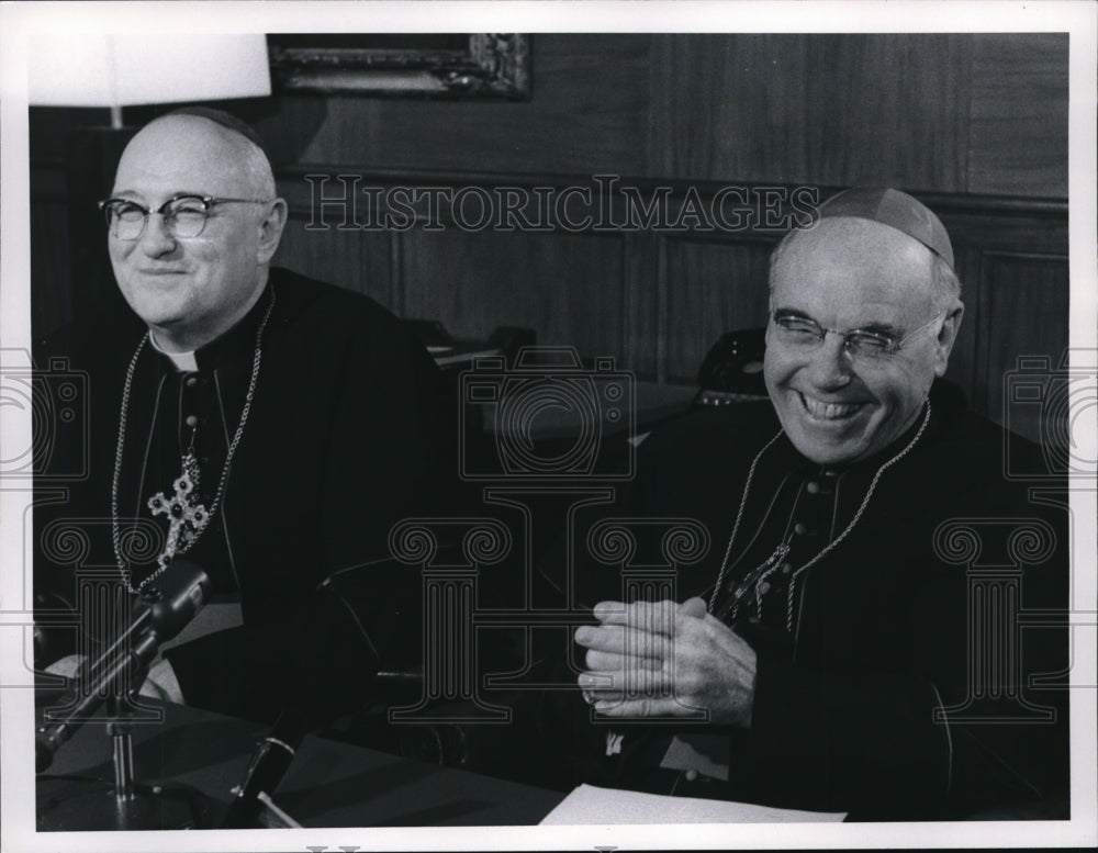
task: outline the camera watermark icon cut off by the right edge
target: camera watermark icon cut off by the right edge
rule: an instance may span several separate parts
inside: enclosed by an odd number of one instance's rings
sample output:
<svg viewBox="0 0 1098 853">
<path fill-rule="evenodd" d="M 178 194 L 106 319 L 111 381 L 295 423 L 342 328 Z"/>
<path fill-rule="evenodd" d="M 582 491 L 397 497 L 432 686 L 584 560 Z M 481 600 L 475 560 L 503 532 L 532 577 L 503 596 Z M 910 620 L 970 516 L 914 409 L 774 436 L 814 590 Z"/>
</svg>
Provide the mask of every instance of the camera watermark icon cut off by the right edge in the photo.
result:
<svg viewBox="0 0 1098 853">
<path fill-rule="evenodd" d="M 1098 412 L 1098 352 L 1072 349 L 1057 366 L 1049 356 L 1021 356 L 1004 377 L 1004 444 L 1008 480 L 1094 478 L 1098 472 L 1095 415 Z M 1035 436 L 1035 454 L 1016 433 Z"/>
</svg>

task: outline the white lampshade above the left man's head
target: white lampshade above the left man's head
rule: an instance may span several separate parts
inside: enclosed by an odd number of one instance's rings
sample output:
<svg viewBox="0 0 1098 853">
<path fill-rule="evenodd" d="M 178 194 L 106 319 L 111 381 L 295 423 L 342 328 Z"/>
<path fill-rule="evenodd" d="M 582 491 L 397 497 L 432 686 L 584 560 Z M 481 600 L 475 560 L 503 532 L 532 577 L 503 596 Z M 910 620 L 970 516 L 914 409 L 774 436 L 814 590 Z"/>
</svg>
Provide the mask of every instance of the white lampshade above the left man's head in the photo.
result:
<svg viewBox="0 0 1098 853">
<path fill-rule="evenodd" d="M 35 33 L 27 96 L 41 106 L 121 106 L 270 94 L 259 35 Z"/>
</svg>

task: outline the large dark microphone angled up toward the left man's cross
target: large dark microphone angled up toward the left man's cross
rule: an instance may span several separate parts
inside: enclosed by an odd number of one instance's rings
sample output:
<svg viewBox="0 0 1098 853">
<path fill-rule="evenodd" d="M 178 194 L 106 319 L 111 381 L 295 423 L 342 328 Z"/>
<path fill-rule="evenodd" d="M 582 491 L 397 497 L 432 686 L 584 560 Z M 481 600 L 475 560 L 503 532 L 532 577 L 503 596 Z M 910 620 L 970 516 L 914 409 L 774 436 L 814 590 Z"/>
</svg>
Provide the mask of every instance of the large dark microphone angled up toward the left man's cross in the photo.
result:
<svg viewBox="0 0 1098 853">
<path fill-rule="evenodd" d="M 41 773 L 54 753 L 80 728 L 109 696 L 128 689 L 133 677 L 156 658 L 159 644 L 170 640 L 205 603 L 210 579 L 194 563 L 172 562 L 155 585 L 142 593 L 125 631 L 82 669 L 76 682 L 76 702 L 60 719 L 46 712 L 35 732 L 35 770 Z"/>
</svg>

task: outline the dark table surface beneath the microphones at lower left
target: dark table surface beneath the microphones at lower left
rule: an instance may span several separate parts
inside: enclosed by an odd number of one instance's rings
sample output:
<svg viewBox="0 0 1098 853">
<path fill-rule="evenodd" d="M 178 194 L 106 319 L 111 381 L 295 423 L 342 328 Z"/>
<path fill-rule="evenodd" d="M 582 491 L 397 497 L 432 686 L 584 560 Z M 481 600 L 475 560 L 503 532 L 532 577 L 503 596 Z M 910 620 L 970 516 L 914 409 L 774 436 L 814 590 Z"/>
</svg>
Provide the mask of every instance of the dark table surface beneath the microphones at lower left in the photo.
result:
<svg viewBox="0 0 1098 853">
<path fill-rule="evenodd" d="M 135 776 L 145 785 L 184 785 L 224 806 L 267 729 L 178 705 L 163 722 L 133 727 Z M 64 810 L 60 776 L 113 779 L 105 726 L 85 725 L 57 752 L 44 786 Z M 536 824 L 564 795 L 309 736 L 274 803 L 305 827 L 435 827 Z M 215 812 L 219 813 L 219 812 Z M 40 816 L 40 827 L 43 826 Z M 68 827 L 74 829 L 74 827 Z"/>
</svg>

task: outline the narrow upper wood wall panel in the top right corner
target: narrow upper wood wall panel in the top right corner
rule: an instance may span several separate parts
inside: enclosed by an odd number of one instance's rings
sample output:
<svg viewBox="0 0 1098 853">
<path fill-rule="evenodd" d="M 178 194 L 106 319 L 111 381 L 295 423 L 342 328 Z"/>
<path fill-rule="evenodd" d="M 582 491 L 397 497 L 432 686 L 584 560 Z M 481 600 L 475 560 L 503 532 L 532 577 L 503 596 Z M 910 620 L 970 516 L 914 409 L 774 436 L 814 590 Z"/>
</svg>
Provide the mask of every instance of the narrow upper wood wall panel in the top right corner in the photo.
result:
<svg viewBox="0 0 1098 853">
<path fill-rule="evenodd" d="M 968 192 L 1067 198 L 1067 33 L 975 38 Z"/>
</svg>

